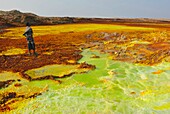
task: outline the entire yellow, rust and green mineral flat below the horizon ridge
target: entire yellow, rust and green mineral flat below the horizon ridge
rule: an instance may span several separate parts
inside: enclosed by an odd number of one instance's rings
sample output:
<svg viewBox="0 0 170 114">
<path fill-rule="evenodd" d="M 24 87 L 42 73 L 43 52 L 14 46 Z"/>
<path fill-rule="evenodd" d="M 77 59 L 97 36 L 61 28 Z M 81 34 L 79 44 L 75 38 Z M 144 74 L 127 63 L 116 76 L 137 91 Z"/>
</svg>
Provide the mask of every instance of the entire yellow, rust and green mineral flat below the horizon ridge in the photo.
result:
<svg viewBox="0 0 170 114">
<path fill-rule="evenodd" d="M 4 30 L 0 112 L 169 114 L 168 26 L 33 26 L 37 57 L 23 27 Z"/>
</svg>

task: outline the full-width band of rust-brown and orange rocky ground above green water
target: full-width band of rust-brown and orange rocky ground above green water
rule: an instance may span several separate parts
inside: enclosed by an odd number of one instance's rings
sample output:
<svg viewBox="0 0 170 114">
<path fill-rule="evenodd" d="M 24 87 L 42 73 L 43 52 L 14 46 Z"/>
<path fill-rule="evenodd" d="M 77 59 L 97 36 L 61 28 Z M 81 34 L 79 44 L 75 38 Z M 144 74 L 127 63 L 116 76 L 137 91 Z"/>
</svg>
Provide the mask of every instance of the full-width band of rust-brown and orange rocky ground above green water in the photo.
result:
<svg viewBox="0 0 170 114">
<path fill-rule="evenodd" d="M 149 27 L 151 25 L 148 25 Z M 155 26 L 155 25 L 154 25 Z M 160 26 L 158 24 L 158 26 Z M 166 30 L 166 31 L 165 31 Z M 49 64 L 76 64 L 81 48 L 95 47 L 114 60 L 152 65 L 170 55 L 170 34 L 166 26 L 157 32 L 66 32 L 35 37 L 38 57 L 1 55 L 0 71 L 23 72 Z M 149 42 L 149 44 L 134 43 Z M 130 46 L 132 45 L 132 46 Z M 0 39 L 0 53 L 9 47 L 27 49 L 25 39 Z M 74 61 L 74 62 L 69 62 Z"/>
</svg>

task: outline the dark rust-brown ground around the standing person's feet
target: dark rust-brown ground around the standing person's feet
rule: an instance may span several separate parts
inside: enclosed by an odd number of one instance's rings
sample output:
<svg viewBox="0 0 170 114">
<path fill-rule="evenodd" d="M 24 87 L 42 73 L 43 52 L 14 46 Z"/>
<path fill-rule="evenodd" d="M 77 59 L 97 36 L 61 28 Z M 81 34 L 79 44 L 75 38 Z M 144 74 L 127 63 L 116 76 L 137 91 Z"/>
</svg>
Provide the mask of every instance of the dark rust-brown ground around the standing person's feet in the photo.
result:
<svg viewBox="0 0 170 114">
<path fill-rule="evenodd" d="M 72 43 L 72 38 L 68 39 L 67 35 L 70 37 L 81 37 L 71 33 L 36 37 L 38 57 L 29 56 L 27 53 L 0 56 L 0 70 L 20 72 L 47 64 L 71 64 L 68 60 L 79 60 L 82 57 L 79 46 L 85 42 L 85 38 L 76 38 L 77 40 L 75 39 L 74 43 Z M 7 50 L 6 47 L 26 49 L 27 44 L 25 39 L 0 39 L 0 51 Z M 51 52 L 51 54 L 43 54 L 45 52 Z"/>
</svg>

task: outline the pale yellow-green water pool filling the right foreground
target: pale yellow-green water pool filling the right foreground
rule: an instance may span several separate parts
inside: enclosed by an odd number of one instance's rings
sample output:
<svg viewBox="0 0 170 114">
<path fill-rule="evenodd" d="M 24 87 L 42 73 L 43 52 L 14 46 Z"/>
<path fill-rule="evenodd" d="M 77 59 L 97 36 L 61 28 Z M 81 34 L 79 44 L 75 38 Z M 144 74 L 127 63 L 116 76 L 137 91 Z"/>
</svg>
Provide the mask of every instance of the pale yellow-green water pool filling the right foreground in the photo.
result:
<svg viewBox="0 0 170 114">
<path fill-rule="evenodd" d="M 100 58 L 91 58 L 93 55 Z M 62 79 L 35 99 L 20 104 L 21 114 L 169 114 L 170 63 L 144 66 L 113 61 L 107 54 L 85 50 L 79 62 L 96 65 L 86 74 Z M 154 73 L 157 71 L 161 73 Z"/>
</svg>

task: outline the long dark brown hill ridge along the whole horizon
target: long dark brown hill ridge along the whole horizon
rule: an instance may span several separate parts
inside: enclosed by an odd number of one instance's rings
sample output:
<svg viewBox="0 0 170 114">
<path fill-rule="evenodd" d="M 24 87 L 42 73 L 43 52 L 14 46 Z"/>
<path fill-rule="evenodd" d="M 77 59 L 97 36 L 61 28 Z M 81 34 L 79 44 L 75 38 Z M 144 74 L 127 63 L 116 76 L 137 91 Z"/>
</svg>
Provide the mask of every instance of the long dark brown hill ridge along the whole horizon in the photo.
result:
<svg viewBox="0 0 170 114">
<path fill-rule="evenodd" d="M 148 18 L 76 18 L 76 17 L 43 17 L 33 13 L 23 13 L 18 10 L 0 11 L 0 28 L 31 25 L 55 25 L 69 23 L 170 23 L 170 19 Z"/>
</svg>

